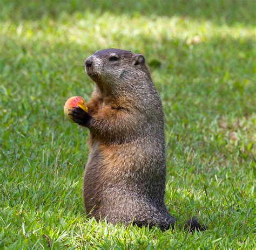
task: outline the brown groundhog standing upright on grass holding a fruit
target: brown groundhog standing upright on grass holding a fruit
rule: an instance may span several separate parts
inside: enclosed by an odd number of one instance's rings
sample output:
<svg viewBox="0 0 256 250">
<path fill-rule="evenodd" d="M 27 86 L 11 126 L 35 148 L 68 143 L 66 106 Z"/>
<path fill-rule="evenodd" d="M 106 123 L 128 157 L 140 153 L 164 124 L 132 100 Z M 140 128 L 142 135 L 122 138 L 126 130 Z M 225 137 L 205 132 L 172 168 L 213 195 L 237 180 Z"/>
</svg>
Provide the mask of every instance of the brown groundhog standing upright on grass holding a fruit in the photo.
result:
<svg viewBox="0 0 256 250">
<path fill-rule="evenodd" d="M 176 218 L 164 202 L 164 112 L 145 58 L 109 48 L 88 57 L 85 69 L 96 84 L 89 112 L 75 107 L 70 115 L 90 130 L 86 212 L 113 224 L 169 229 Z M 194 219 L 187 224 L 200 227 Z"/>
</svg>

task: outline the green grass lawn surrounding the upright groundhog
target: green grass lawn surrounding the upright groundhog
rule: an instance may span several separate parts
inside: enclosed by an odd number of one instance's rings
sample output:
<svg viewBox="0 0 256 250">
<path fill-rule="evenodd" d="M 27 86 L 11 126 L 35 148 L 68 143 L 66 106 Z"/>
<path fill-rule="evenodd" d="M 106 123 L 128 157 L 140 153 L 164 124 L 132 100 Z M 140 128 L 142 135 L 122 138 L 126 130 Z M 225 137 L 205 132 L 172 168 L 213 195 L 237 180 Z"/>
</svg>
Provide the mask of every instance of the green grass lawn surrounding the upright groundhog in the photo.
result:
<svg viewBox="0 0 256 250">
<path fill-rule="evenodd" d="M 0 3 L 0 248 L 48 248 L 43 235 L 52 249 L 255 248 L 255 2 L 94 2 Z M 83 61 L 107 47 L 145 55 L 165 110 L 166 204 L 207 231 L 86 218 L 88 131 L 62 109 L 89 98 Z"/>
</svg>

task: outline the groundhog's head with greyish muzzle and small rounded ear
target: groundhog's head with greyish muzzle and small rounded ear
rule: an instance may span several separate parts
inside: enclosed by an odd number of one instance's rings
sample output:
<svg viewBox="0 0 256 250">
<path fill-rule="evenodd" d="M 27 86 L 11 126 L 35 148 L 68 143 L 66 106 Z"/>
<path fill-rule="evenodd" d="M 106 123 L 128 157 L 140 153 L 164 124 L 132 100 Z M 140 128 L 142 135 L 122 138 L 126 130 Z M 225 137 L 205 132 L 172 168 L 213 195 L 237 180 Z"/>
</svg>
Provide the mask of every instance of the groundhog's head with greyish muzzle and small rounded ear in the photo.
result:
<svg viewBox="0 0 256 250">
<path fill-rule="evenodd" d="M 107 48 L 90 55 L 85 61 L 87 75 L 102 87 L 124 88 L 149 79 L 150 73 L 142 54 Z"/>
</svg>

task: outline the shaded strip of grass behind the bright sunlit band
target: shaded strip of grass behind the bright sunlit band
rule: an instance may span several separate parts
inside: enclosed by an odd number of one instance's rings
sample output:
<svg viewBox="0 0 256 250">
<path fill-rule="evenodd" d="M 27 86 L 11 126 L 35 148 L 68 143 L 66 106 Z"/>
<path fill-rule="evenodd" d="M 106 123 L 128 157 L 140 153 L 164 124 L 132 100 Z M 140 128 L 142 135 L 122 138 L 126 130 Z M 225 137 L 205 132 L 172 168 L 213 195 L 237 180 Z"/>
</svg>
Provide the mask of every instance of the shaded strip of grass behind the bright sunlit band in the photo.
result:
<svg viewBox="0 0 256 250">
<path fill-rule="evenodd" d="M 1 4 L 0 4 L 1 8 Z M 216 24 L 244 24 L 255 25 L 254 15 L 255 3 L 251 0 L 178 0 L 178 1 L 119 1 L 119 0 L 46 0 L 46 1 L 2 1 L 1 19 L 11 20 L 36 20 L 49 16 L 57 19 L 63 13 L 69 15 L 78 12 L 84 13 L 106 11 L 114 15 L 127 14 L 131 16 L 180 16 L 184 18 L 194 18 L 198 20 L 211 20 Z M 78 14 L 79 15 L 79 14 Z"/>
</svg>

